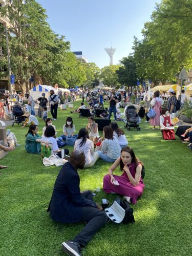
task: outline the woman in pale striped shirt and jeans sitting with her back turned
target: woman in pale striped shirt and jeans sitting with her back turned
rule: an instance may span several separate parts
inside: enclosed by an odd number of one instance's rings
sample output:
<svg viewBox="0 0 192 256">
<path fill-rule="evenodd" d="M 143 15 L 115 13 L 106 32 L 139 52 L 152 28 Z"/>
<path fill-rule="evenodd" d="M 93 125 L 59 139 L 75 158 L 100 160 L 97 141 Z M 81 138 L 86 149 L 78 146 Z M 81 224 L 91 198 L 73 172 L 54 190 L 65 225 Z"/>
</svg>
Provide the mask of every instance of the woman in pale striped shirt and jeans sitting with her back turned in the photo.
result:
<svg viewBox="0 0 192 256">
<path fill-rule="evenodd" d="M 102 141 L 101 151 L 97 152 L 102 160 L 113 163 L 120 157 L 121 147 L 118 140 L 113 136 L 113 129 L 111 126 L 103 127 L 103 136 L 104 140 Z"/>
</svg>

